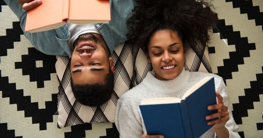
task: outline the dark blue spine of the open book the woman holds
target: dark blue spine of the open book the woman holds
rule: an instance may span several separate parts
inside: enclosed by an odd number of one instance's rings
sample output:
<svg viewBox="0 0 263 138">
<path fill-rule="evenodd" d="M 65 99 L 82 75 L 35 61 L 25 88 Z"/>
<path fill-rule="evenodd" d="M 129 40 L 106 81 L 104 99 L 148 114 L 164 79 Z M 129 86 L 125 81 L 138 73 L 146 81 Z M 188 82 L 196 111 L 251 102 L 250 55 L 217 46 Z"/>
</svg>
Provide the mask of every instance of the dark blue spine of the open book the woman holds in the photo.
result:
<svg viewBox="0 0 263 138">
<path fill-rule="evenodd" d="M 179 106 L 181 111 L 184 136 L 185 138 L 193 138 L 191 121 L 186 100 L 181 101 Z"/>
</svg>

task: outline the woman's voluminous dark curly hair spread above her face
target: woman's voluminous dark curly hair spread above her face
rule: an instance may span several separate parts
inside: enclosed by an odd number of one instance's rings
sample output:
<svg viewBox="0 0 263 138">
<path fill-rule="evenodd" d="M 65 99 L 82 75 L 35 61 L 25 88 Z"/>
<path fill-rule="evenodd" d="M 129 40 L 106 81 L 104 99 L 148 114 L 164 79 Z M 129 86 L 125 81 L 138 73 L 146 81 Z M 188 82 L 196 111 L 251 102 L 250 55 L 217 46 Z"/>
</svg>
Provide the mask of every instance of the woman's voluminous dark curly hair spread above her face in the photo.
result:
<svg viewBox="0 0 263 138">
<path fill-rule="evenodd" d="M 212 7 L 202 0 L 139 0 L 127 20 L 127 39 L 147 52 L 153 33 L 170 29 L 178 33 L 183 45 L 188 43 L 192 47 L 196 41 L 207 45 L 208 30 L 217 21 Z"/>
</svg>

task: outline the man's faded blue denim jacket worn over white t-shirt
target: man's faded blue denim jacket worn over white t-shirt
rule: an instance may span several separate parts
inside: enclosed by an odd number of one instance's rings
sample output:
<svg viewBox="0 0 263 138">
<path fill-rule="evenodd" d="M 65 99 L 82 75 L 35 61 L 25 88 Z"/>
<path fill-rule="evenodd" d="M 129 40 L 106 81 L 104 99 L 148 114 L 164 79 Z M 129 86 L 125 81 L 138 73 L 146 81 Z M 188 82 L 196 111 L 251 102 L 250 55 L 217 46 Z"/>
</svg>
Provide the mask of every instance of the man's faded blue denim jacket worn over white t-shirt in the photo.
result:
<svg viewBox="0 0 263 138">
<path fill-rule="evenodd" d="M 27 12 L 17 0 L 4 0 L 18 17 L 22 30 L 25 29 Z M 136 6 L 136 0 L 110 0 L 111 20 L 109 23 L 94 24 L 101 36 L 113 52 L 114 46 L 126 41 L 126 20 L 131 16 L 131 10 Z M 96 14 L 96 11 L 92 11 Z M 44 32 L 24 32 L 25 37 L 40 52 L 49 55 L 70 56 L 73 47 L 69 45 L 70 33 L 67 24 Z"/>
</svg>

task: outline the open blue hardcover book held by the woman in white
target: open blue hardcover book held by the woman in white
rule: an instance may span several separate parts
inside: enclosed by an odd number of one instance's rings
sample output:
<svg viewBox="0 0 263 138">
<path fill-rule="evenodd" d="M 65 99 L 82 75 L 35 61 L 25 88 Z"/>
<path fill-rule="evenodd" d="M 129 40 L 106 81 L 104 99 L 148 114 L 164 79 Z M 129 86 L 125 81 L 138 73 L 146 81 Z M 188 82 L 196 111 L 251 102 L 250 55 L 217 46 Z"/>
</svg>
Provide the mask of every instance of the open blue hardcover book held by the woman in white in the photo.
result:
<svg viewBox="0 0 263 138">
<path fill-rule="evenodd" d="M 148 135 L 165 138 L 198 138 L 213 125 L 207 125 L 205 116 L 217 110 L 207 106 L 216 104 L 213 77 L 205 77 L 192 86 L 182 99 L 163 97 L 144 99 L 140 111 Z"/>
</svg>

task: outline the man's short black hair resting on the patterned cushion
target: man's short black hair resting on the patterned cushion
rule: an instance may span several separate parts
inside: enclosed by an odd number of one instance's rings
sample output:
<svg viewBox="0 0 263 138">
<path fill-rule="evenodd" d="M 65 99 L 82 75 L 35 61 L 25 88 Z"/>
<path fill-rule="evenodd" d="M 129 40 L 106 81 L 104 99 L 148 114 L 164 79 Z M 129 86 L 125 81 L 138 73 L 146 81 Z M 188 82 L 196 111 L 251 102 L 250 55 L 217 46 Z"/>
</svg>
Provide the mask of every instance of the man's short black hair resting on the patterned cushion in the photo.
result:
<svg viewBox="0 0 263 138">
<path fill-rule="evenodd" d="M 114 74 L 109 70 L 104 82 L 99 84 L 73 85 L 71 78 L 71 89 L 78 102 L 86 106 L 101 106 L 110 100 L 114 88 Z"/>
</svg>

